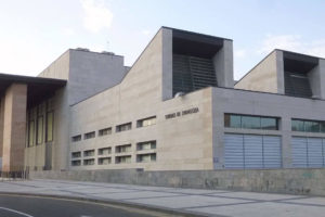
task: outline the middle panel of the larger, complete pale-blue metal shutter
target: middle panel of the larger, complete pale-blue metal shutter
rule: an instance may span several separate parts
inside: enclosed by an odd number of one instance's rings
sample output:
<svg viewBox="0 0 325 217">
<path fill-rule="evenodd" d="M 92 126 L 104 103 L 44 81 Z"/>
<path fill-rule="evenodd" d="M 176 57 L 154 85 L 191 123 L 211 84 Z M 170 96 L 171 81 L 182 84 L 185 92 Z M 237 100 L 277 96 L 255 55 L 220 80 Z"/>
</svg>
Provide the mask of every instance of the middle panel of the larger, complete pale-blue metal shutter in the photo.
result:
<svg viewBox="0 0 325 217">
<path fill-rule="evenodd" d="M 263 138 L 262 136 L 244 136 L 245 168 L 263 168 Z"/>
</svg>

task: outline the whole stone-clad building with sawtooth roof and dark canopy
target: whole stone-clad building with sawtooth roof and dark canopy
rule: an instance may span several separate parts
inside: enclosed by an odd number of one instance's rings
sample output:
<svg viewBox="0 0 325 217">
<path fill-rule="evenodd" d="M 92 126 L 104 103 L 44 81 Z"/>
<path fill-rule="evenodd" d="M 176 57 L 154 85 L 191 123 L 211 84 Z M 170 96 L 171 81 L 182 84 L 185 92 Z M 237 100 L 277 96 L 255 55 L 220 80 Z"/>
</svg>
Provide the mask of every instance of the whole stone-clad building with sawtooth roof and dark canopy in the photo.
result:
<svg viewBox="0 0 325 217">
<path fill-rule="evenodd" d="M 0 76 L 3 170 L 325 166 L 325 60 L 274 50 L 233 79 L 232 40 L 161 27 L 131 68 L 68 50 Z"/>
</svg>

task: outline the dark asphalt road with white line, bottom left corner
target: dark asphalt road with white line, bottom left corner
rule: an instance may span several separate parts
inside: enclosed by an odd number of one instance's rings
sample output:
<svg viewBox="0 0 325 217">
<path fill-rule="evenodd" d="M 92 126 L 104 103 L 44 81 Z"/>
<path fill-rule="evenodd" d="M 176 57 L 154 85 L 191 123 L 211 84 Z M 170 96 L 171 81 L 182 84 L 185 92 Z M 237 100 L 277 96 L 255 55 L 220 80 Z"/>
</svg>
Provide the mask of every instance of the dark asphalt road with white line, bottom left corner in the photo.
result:
<svg viewBox="0 0 325 217">
<path fill-rule="evenodd" d="M 0 217 L 169 217 L 169 214 L 86 201 L 0 194 Z"/>
</svg>

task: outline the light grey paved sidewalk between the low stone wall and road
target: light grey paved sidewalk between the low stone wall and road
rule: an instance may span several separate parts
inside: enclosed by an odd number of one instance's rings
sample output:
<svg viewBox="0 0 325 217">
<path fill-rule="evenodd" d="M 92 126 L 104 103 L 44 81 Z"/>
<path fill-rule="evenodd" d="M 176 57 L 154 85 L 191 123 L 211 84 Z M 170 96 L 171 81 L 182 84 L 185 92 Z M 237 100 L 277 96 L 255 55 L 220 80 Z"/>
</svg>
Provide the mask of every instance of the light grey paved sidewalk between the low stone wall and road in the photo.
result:
<svg viewBox="0 0 325 217">
<path fill-rule="evenodd" d="M 0 192 L 127 203 L 202 216 L 323 217 L 325 197 L 67 180 L 2 181 Z"/>
</svg>

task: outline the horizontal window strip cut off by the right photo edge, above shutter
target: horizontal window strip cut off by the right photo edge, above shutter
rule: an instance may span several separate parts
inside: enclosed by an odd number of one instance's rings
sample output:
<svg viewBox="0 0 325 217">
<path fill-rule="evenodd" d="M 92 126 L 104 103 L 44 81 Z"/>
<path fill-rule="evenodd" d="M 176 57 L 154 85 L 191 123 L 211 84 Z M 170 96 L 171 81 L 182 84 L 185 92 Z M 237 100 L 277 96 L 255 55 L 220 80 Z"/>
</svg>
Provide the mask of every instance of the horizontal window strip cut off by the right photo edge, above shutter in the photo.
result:
<svg viewBox="0 0 325 217">
<path fill-rule="evenodd" d="M 325 132 L 325 122 L 291 119 L 291 130 L 301 132 Z"/>
</svg>

